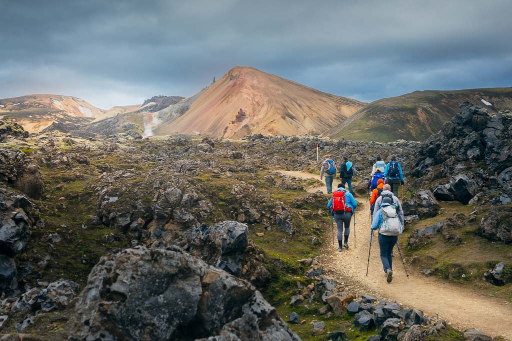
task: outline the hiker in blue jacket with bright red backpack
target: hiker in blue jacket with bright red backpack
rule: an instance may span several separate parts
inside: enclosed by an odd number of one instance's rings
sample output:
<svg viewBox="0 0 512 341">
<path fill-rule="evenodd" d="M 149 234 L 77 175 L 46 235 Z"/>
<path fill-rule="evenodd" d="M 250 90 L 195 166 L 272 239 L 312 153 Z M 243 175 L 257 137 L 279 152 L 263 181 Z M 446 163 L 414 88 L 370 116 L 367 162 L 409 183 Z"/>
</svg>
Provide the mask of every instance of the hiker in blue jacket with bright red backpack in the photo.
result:
<svg viewBox="0 0 512 341">
<path fill-rule="evenodd" d="M 336 226 L 338 228 L 338 251 L 343 251 L 343 247 L 348 248 L 349 234 L 350 234 L 350 220 L 357 208 L 357 202 L 350 192 L 348 192 L 342 184 L 338 185 L 338 189 L 334 191 L 331 199 L 327 203 L 327 208 L 331 209 L 331 214 L 334 215 Z M 343 225 L 345 224 L 345 233 Z M 342 236 L 345 237 L 342 240 Z M 343 244 L 342 244 L 343 242 Z"/>
</svg>

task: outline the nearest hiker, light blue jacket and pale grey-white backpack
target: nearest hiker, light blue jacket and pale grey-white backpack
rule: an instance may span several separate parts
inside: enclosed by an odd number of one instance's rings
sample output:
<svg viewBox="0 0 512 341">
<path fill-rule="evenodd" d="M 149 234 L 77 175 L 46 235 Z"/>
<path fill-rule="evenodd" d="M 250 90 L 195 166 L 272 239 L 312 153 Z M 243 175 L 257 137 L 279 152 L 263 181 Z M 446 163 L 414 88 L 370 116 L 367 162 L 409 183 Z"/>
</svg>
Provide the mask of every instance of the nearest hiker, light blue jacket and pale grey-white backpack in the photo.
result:
<svg viewBox="0 0 512 341">
<path fill-rule="evenodd" d="M 401 208 L 398 208 L 398 204 L 393 202 L 391 196 L 381 196 L 381 198 L 372 222 L 372 230 L 379 230 L 380 260 L 386 274 L 386 281 L 390 283 L 393 280 L 393 248 L 403 231 L 403 214 L 400 218 Z"/>
</svg>

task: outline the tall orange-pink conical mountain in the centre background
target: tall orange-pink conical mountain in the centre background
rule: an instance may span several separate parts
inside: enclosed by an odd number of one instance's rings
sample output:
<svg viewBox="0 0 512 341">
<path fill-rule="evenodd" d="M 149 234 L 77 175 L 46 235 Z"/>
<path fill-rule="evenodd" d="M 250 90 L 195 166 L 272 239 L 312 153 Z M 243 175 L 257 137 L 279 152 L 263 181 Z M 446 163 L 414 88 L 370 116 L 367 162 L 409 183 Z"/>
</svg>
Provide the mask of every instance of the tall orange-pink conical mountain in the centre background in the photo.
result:
<svg viewBox="0 0 512 341">
<path fill-rule="evenodd" d="M 181 116 L 163 121 L 155 133 L 224 138 L 250 133 L 320 134 L 364 105 L 252 67 L 237 66 L 206 88 Z"/>
</svg>

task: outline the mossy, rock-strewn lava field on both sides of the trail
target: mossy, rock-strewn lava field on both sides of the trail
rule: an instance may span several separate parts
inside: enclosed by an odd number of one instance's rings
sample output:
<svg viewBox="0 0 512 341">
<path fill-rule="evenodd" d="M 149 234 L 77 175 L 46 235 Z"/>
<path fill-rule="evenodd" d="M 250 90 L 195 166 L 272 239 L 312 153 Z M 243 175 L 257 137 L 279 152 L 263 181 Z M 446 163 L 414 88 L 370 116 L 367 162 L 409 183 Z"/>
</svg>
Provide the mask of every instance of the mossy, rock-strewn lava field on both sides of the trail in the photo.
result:
<svg viewBox="0 0 512 341">
<path fill-rule="evenodd" d="M 510 129 L 510 115 L 469 105 L 423 144 L 86 139 L 56 130 L 27 135 L 2 121 L 1 332 L 5 339 L 295 340 L 328 332 L 330 339 L 477 339 L 412 308 L 366 302 L 325 277 L 315 257 L 330 229 L 326 196 L 306 191 L 322 184 L 276 170 L 318 172 L 317 143 L 321 156 L 351 156 L 355 180 L 377 153 L 398 154 L 410 175 L 408 260 L 449 280 L 466 274 L 464 281 L 485 277 L 488 286 L 510 288 Z M 425 230 L 436 219 L 442 224 Z M 451 271 L 454 262 L 437 254 L 421 257 L 429 245 L 446 255 L 464 243 L 495 255 L 475 260 L 474 276 Z M 501 294 L 511 300 L 509 292 Z"/>
</svg>

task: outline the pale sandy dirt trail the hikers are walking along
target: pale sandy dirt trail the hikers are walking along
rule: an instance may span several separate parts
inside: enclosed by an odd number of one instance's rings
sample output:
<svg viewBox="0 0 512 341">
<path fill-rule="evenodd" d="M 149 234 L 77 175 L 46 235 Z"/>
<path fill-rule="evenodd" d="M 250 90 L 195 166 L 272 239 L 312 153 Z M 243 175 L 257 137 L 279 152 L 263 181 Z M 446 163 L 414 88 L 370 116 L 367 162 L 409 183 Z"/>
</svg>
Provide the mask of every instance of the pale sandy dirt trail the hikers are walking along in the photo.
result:
<svg viewBox="0 0 512 341">
<path fill-rule="evenodd" d="M 298 178 L 319 179 L 318 175 L 310 173 L 280 172 Z M 338 183 L 339 180 L 335 179 L 333 188 L 336 188 Z M 327 193 L 325 186 L 309 188 L 308 192 L 316 190 Z M 350 226 L 349 248 L 343 252 L 337 251 L 337 242 L 336 246 L 331 242 L 331 231 L 326 231 L 327 242 L 324 243 L 320 262 L 328 275 L 344 283 L 344 287 L 351 286 L 351 289 L 375 294 L 379 299 L 387 298 L 404 306 L 415 307 L 431 317 L 439 315 L 461 330 L 481 328 L 493 337 L 502 335 L 512 340 L 512 305 L 484 297 L 471 288 L 420 275 L 406 260 L 409 272 L 407 278 L 396 247 L 393 257 L 393 282 L 388 284 L 380 262 L 376 231 L 373 234 L 370 268 L 366 277 L 371 226 L 370 204 L 365 202 L 366 197 L 358 196 L 356 199 L 359 203 L 355 214 L 356 248 L 354 219 Z M 335 224 L 334 229 L 336 234 Z M 400 248 L 402 254 L 404 247 Z"/>
</svg>

